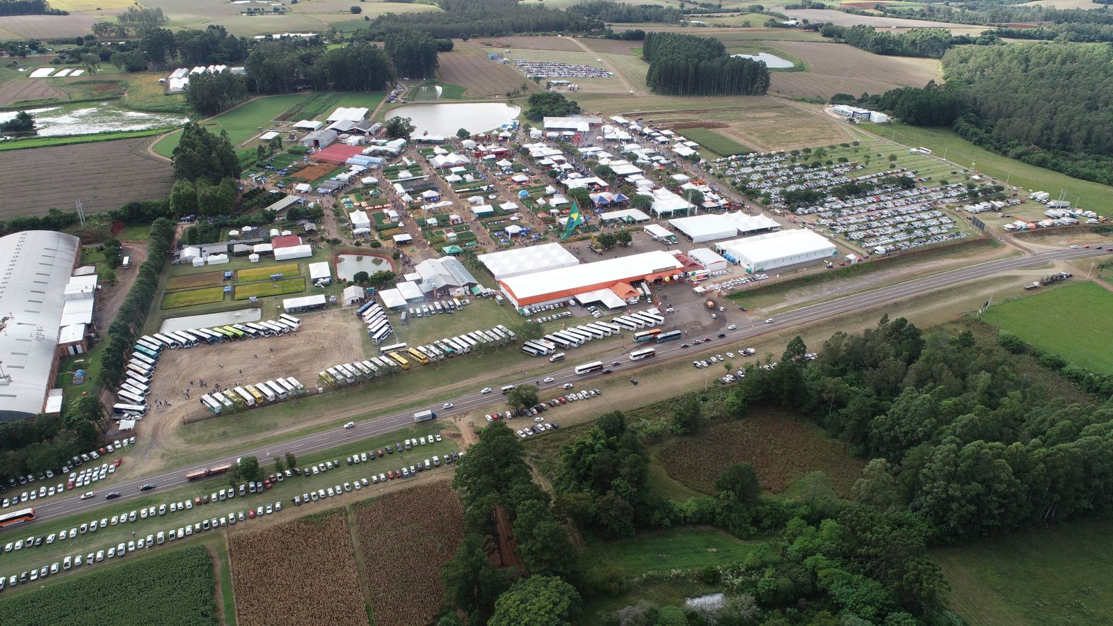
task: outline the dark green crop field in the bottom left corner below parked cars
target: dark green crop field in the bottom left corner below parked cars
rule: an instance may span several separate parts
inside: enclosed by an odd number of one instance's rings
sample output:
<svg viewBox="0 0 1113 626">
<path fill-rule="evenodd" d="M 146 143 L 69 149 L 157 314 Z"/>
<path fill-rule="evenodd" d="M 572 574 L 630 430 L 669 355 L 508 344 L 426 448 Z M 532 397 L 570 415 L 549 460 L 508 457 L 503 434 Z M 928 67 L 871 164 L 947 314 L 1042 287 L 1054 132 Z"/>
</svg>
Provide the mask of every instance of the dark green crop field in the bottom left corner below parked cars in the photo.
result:
<svg viewBox="0 0 1113 626">
<path fill-rule="evenodd" d="M 0 616 L 6 624 L 217 624 L 213 559 L 203 546 L 125 558 L 49 587 L 16 587 L 0 600 Z"/>
</svg>

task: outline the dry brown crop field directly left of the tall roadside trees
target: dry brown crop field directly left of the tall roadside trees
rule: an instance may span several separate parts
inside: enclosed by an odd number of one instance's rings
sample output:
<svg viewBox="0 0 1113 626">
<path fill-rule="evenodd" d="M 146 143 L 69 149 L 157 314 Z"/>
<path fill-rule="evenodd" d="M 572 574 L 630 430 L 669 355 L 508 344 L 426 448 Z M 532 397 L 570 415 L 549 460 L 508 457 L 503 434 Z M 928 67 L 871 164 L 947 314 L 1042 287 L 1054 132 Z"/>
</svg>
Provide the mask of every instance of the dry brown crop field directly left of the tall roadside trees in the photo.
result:
<svg viewBox="0 0 1113 626">
<path fill-rule="evenodd" d="M 375 625 L 432 623 L 444 595 L 441 565 L 464 537 L 456 495 L 440 481 L 361 503 L 354 515 Z"/>
</svg>

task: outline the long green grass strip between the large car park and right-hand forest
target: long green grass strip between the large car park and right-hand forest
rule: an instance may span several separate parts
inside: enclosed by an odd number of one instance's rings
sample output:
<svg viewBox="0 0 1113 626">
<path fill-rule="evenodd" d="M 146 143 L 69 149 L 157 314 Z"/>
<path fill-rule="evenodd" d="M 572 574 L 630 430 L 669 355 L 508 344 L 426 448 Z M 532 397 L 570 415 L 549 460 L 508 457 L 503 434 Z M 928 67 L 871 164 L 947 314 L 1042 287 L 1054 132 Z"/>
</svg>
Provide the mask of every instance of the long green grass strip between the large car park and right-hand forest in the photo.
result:
<svg viewBox="0 0 1113 626">
<path fill-rule="evenodd" d="M 962 167 L 977 169 L 1001 180 L 1007 179 L 1011 186 L 1020 187 L 1024 192 L 1043 190 L 1057 197 L 1060 190 L 1065 189 L 1067 199 L 1080 198 L 1082 207 L 1100 213 L 1109 206 L 1109 198 L 1113 195 L 1113 187 L 1080 180 L 1001 156 L 971 144 L 948 128 L 923 128 L 900 123 L 886 125 L 863 123 L 861 127 L 906 146 L 932 149 L 935 156 L 947 158 Z M 1026 197 L 1027 193 L 1021 195 Z"/>
</svg>

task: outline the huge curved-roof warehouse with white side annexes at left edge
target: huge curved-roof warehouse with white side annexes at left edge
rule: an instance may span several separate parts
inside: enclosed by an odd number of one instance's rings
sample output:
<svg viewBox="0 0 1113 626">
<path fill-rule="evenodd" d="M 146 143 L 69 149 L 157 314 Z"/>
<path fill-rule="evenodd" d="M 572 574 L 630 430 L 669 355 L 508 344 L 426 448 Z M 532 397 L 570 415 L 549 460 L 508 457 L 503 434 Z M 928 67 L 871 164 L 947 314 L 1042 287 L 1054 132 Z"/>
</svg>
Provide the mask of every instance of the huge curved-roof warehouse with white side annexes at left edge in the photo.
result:
<svg viewBox="0 0 1113 626">
<path fill-rule="evenodd" d="M 59 393 L 48 398 L 59 356 L 87 350 L 97 290 L 96 274 L 71 277 L 80 251 L 77 237 L 52 231 L 0 237 L 0 420 L 61 409 Z"/>
</svg>

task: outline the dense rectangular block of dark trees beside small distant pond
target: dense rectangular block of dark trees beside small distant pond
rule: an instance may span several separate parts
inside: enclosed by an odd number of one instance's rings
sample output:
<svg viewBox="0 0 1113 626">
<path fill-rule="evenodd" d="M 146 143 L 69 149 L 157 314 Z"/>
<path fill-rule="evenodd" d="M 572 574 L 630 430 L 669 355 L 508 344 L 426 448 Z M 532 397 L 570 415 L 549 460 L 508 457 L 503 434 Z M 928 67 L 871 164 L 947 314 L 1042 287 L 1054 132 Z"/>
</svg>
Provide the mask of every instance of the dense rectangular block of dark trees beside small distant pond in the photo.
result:
<svg viewBox="0 0 1113 626">
<path fill-rule="evenodd" d="M 642 45 L 649 62 L 646 82 L 658 94 L 679 96 L 757 96 L 769 89 L 765 63 L 727 55 L 710 37 L 650 32 Z"/>
</svg>

